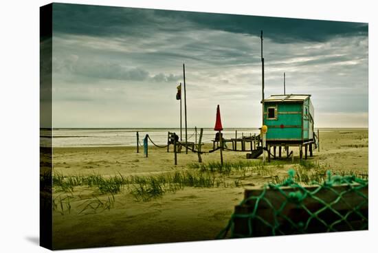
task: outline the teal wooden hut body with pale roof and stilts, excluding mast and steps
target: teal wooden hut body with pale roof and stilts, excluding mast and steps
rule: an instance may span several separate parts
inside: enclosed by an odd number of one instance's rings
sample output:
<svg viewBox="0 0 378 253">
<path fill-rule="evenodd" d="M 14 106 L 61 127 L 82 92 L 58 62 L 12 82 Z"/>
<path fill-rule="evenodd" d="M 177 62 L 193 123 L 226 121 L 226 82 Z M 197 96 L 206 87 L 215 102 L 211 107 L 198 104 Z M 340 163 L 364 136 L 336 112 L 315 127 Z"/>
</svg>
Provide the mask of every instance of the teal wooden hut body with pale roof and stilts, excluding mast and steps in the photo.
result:
<svg viewBox="0 0 378 253">
<path fill-rule="evenodd" d="M 302 146 L 309 146 L 312 156 L 315 133 L 313 128 L 314 111 L 311 103 L 311 95 L 290 94 L 271 95 L 264 99 L 263 122 L 268 126 L 266 135 L 267 148 L 284 146 L 289 152 L 289 146 L 299 146 L 300 158 L 302 158 Z M 289 155 L 289 154 L 288 154 Z"/>
</svg>

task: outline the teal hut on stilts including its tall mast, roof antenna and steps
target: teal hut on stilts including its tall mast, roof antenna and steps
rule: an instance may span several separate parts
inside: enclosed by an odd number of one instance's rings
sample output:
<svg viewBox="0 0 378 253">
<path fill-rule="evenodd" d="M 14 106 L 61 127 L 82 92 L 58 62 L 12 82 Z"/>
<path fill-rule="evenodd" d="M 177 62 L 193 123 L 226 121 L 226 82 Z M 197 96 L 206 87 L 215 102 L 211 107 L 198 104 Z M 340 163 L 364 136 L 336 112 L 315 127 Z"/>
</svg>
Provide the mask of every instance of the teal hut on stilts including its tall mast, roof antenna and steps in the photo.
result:
<svg viewBox="0 0 378 253">
<path fill-rule="evenodd" d="M 261 65 L 262 65 L 262 100 L 264 135 L 260 135 L 261 146 L 247 154 L 247 158 L 257 158 L 267 151 L 268 162 L 271 156 L 276 157 L 278 147 L 278 157 L 282 156 L 282 148 L 285 148 L 286 155 L 293 159 L 293 151 L 289 152 L 289 147 L 298 146 L 300 159 L 303 156 L 307 159 L 307 153 L 313 156 L 313 149 L 319 148 L 318 134 L 314 132 L 314 109 L 309 94 L 286 94 L 285 74 L 284 74 L 284 94 L 264 96 L 264 58 L 263 58 L 263 31 L 261 39 Z M 266 130 L 269 129 L 269 130 Z M 264 140 L 265 139 L 265 140 Z M 271 153 L 273 148 L 273 154 Z M 265 161 L 265 154 L 263 157 Z"/>
</svg>

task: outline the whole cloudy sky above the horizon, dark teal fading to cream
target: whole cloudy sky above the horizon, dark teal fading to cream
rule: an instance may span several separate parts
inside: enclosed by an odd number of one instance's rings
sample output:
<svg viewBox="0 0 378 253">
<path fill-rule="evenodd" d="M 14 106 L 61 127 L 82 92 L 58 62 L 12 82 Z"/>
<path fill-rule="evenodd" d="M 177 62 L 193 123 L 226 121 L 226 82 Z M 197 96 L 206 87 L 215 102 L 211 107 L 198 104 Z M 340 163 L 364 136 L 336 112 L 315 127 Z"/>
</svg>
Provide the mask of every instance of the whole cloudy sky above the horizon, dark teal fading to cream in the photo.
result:
<svg viewBox="0 0 378 253">
<path fill-rule="evenodd" d="M 368 24 L 54 3 L 54 127 L 261 122 L 265 96 L 311 94 L 315 127 L 368 126 Z"/>
</svg>

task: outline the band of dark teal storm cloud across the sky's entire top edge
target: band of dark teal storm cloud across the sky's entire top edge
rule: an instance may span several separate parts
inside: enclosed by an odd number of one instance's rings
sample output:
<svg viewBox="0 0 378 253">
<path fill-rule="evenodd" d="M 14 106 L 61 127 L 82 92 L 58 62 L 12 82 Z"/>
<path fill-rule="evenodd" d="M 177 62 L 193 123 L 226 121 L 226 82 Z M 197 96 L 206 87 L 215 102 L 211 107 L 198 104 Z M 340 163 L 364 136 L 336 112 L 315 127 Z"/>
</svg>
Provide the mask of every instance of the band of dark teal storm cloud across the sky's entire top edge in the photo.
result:
<svg viewBox="0 0 378 253">
<path fill-rule="evenodd" d="M 367 23 L 287 19 L 236 14 L 117 8 L 54 3 L 54 32 L 90 36 L 148 36 L 183 28 L 265 37 L 277 43 L 324 42 L 337 36 L 366 36 Z"/>
</svg>

